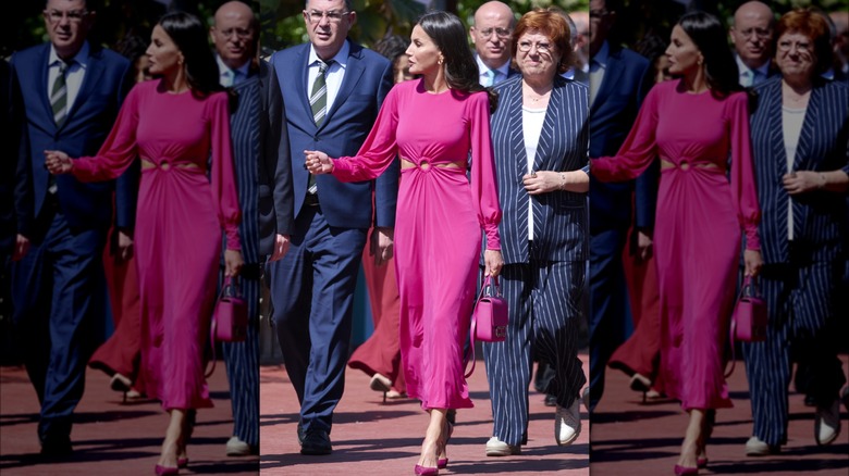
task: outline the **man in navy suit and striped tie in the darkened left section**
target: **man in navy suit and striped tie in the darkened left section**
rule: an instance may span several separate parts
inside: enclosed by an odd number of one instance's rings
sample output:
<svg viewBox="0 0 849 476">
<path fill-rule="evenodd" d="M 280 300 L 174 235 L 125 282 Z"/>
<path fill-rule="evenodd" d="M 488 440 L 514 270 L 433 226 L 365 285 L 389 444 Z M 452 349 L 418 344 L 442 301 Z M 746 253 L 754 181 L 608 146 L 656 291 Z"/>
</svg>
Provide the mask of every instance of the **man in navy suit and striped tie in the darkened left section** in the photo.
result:
<svg viewBox="0 0 849 476">
<path fill-rule="evenodd" d="M 21 147 L 33 180 L 29 252 L 13 267 L 14 322 L 24 339 L 24 361 L 38 393 L 41 453 L 71 453 L 73 411 L 83 397 L 86 362 L 94 349 L 95 318 L 102 318 L 101 253 L 112 218 L 130 233 L 131 177 L 83 184 L 53 177 L 44 151 L 93 155 L 109 134 L 132 84 L 131 64 L 86 41 L 95 21 L 91 0 L 48 0 L 50 42 L 12 58 L 26 109 L 28 141 Z M 122 180 L 127 183 L 121 185 Z M 26 197 L 16 195 L 23 203 Z M 125 245 L 128 245 L 125 242 Z"/>
</svg>

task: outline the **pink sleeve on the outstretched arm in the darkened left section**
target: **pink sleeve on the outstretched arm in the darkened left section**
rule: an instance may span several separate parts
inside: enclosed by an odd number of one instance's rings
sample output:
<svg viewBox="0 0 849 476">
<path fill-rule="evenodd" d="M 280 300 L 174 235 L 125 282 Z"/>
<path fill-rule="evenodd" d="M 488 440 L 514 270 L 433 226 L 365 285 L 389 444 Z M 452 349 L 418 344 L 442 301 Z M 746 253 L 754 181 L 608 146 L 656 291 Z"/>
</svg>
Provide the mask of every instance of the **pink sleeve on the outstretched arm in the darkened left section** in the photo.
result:
<svg viewBox="0 0 849 476">
<path fill-rule="evenodd" d="M 73 160 L 71 173 L 81 181 L 111 180 L 120 176 L 136 159 L 136 129 L 140 88 L 130 90 L 121 105 L 115 124 L 95 156 Z"/>
</svg>

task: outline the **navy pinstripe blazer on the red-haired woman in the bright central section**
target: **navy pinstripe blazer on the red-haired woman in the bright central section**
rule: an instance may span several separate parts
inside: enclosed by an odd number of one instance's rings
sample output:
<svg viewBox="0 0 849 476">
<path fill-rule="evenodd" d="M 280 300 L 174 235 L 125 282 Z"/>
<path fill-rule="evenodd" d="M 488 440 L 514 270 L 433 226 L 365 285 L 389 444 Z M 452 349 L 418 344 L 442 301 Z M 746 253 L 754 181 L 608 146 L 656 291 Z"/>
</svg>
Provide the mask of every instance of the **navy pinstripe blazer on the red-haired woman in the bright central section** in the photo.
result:
<svg viewBox="0 0 849 476">
<path fill-rule="evenodd" d="M 492 147 L 502 206 L 501 251 L 506 264 L 582 261 L 588 251 L 587 195 L 554 191 L 531 197 L 521 177 L 528 170 L 521 113 L 521 77 L 500 83 L 492 115 Z M 554 78 L 537 146 L 534 171 L 577 171 L 587 165 L 587 86 Z M 528 246 L 528 200 L 533 203 L 533 250 Z"/>
</svg>

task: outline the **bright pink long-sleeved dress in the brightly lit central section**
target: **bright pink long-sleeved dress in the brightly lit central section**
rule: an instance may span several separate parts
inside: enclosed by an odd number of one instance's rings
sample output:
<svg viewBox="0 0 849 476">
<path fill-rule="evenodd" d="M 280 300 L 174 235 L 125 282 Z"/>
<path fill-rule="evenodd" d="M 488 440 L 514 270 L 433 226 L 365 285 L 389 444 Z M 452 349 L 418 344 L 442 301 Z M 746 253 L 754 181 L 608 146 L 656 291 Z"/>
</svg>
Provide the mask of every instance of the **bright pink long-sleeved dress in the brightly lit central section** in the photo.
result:
<svg viewBox="0 0 849 476">
<path fill-rule="evenodd" d="M 434 164 L 467 161 L 465 168 Z M 422 80 L 396 85 L 357 156 L 334 161 L 343 181 L 380 175 L 396 154 L 402 168 L 395 218 L 395 271 L 401 295 L 401 352 L 407 394 L 423 409 L 471 408 L 464 378 L 480 260 L 501 249 L 501 206 L 490 140 L 487 93 L 433 95 Z"/>
</svg>

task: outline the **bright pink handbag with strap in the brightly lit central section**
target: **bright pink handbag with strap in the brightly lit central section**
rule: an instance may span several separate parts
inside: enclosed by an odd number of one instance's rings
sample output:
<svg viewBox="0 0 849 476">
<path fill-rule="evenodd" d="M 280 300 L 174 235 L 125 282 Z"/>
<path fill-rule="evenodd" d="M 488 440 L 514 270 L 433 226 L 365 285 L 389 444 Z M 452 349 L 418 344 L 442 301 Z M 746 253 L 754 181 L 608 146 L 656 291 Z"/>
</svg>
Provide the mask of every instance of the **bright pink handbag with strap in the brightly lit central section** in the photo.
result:
<svg viewBox="0 0 849 476">
<path fill-rule="evenodd" d="M 501 296 L 499 278 L 487 276 L 471 313 L 471 368 L 475 372 L 475 341 L 503 342 L 507 338 L 507 300 Z"/>
</svg>

